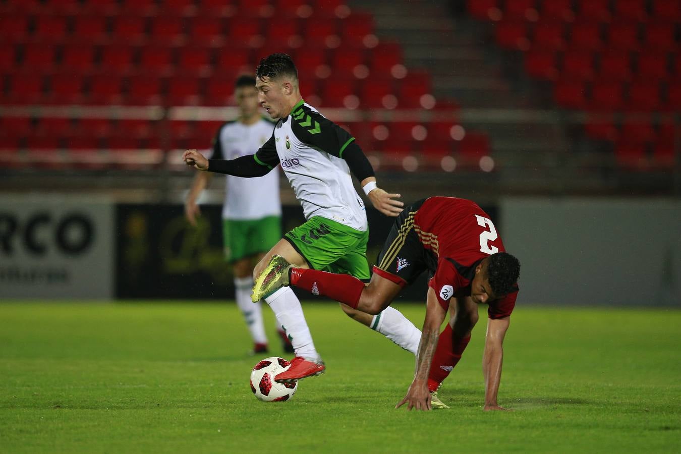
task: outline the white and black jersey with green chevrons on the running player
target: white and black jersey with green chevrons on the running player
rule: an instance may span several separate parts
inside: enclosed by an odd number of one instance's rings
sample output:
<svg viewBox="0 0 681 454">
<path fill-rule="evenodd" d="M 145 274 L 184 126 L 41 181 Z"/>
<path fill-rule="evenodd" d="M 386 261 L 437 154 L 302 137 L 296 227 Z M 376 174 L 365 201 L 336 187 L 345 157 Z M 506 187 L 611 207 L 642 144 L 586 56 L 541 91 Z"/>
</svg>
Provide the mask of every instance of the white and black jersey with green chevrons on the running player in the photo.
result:
<svg viewBox="0 0 681 454">
<path fill-rule="evenodd" d="M 255 153 L 270 169 L 281 163 L 306 219 L 321 216 L 366 231 L 366 211 L 353 187 L 343 150 L 353 141 L 345 129 L 304 101 L 279 120 L 274 133 Z"/>
</svg>

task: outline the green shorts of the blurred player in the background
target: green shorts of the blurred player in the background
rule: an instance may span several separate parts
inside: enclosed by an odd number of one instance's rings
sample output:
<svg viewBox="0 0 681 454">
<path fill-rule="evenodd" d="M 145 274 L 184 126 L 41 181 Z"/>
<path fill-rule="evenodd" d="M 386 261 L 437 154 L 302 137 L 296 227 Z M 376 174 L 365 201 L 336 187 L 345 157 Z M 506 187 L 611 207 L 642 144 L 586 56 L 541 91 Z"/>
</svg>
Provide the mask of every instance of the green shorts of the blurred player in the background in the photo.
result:
<svg viewBox="0 0 681 454">
<path fill-rule="evenodd" d="M 235 262 L 259 253 L 266 253 L 281 239 L 281 217 L 236 221 L 223 219 L 225 260 Z"/>
</svg>

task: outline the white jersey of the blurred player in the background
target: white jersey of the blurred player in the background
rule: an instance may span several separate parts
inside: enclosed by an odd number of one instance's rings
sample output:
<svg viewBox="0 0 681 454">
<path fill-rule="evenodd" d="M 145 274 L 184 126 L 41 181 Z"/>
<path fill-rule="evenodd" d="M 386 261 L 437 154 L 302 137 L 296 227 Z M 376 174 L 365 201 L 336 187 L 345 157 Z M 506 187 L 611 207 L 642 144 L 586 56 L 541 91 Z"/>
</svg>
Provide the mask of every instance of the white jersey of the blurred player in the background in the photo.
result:
<svg viewBox="0 0 681 454">
<path fill-rule="evenodd" d="M 274 125 L 264 118 L 253 125 L 230 121 L 220 127 L 208 159 L 236 159 L 253 155 L 272 136 Z M 259 178 L 227 175 L 222 217 L 238 221 L 281 216 L 279 172 Z"/>
</svg>

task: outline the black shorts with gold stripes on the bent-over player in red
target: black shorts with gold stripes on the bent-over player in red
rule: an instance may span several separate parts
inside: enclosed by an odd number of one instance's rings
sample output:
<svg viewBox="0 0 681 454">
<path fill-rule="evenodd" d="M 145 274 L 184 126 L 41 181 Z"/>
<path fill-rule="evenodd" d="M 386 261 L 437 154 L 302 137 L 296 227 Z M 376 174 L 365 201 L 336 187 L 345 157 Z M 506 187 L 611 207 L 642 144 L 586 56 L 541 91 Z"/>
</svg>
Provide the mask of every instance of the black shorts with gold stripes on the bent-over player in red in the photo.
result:
<svg viewBox="0 0 681 454">
<path fill-rule="evenodd" d="M 414 282 L 424 271 L 434 276 L 437 257 L 424 248 L 414 230 L 414 216 L 424 201 L 405 207 L 397 216 L 376 259 L 375 274 L 402 286 Z"/>
</svg>

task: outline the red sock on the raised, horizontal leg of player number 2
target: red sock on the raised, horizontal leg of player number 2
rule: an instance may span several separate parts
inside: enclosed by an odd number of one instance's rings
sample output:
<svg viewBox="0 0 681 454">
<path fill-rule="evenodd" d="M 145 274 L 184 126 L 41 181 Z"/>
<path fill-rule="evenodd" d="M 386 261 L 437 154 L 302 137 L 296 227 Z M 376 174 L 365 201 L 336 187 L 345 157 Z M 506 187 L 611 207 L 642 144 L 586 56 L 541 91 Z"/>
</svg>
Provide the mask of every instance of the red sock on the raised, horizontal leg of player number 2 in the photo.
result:
<svg viewBox="0 0 681 454">
<path fill-rule="evenodd" d="M 291 268 L 289 281 L 291 285 L 311 291 L 315 295 L 328 296 L 353 309 L 357 308 L 364 290 L 364 282 L 349 274 L 333 274 L 304 268 Z"/>
</svg>

